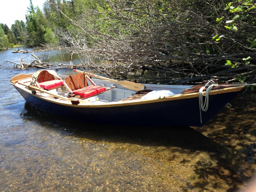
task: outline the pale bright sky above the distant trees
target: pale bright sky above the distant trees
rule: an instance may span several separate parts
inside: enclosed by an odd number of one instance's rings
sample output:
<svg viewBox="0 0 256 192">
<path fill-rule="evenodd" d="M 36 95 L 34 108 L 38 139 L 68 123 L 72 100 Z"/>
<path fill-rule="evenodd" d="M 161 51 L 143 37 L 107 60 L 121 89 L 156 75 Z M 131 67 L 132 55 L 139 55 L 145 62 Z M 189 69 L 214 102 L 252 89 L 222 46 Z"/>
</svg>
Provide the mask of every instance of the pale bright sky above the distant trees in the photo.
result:
<svg viewBox="0 0 256 192">
<path fill-rule="evenodd" d="M 43 11 L 45 0 L 32 0 L 34 7 L 38 6 Z M 26 22 L 25 15 L 29 7 L 29 0 L 1 0 L 0 2 L 0 23 L 12 27 L 15 20 Z"/>
</svg>

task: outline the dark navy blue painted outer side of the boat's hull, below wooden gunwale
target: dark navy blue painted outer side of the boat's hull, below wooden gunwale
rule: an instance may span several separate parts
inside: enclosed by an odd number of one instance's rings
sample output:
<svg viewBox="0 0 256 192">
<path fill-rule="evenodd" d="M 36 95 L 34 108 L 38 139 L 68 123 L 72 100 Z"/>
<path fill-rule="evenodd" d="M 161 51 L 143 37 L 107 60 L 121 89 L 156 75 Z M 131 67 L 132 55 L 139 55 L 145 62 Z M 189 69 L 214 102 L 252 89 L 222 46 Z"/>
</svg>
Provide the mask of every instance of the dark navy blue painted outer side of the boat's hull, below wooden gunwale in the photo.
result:
<svg viewBox="0 0 256 192">
<path fill-rule="evenodd" d="M 17 90 L 36 108 L 78 121 L 99 124 L 197 127 L 207 123 L 238 93 L 210 95 L 208 110 L 201 112 L 201 124 L 198 97 L 138 105 L 87 108 L 49 102 L 19 88 Z"/>
</svg>

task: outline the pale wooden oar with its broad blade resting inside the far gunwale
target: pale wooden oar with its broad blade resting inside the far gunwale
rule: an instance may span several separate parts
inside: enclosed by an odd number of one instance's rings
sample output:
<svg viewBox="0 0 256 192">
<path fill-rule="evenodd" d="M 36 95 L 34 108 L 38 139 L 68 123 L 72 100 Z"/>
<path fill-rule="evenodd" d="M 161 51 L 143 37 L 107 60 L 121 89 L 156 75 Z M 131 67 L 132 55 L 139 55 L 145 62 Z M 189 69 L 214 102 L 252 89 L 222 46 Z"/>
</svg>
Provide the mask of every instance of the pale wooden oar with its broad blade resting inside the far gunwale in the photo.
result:
<svg viewBox="0 0 256 192">
<path fill-rule="evenodd" d="M 74 71 L 78 72 L 78 73 L 83 73 L 84 75 L 89 75 L 89 76 L 93 76 L 93 77 L 97 77 L 97 78 L 100 78 L 100 79 L 104 79 L 104 80 L 108 80 L 108 81 L 112 81 L 112 82 L 118 83 L 118 84 L 122 85 L 123 87 L 125 87 L 127 89 L 131 89 L 133 91 L 140 91 L 140 90 L 144 90 L 145 89 L 145 86 L 142 85 L 142 84 L 139 84 L 139 83 L 134 83 L 134 82 L 125 81 L 125 80 L 117 81 L 117 80 L 114 80 L 114 79 L 110 79 L 108 77 L 94 75 L 92 73 L 88 73 L 86 71 L 79 71 L 79 70 L 76 70 L 76 69 L 74 69 Z"/>
</svg>

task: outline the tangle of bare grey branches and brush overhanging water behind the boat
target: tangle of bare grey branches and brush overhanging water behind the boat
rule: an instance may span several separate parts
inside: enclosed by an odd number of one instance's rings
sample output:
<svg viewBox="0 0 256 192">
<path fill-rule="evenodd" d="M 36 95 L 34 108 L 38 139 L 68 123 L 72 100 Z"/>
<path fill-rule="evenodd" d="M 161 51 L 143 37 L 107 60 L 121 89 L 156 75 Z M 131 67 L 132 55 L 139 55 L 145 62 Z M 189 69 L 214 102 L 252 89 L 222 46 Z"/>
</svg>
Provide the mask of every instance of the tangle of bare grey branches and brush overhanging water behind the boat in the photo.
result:
<svg viewBox="0 0 256 192">
<path fill-rule="evenodd" d="M 55 1 L 48 2 L 66 16 Z M 106 0 L 85 9 L 80 20 L 66 16 L 74 28 L 56 35 L 63 48 L 111 78 L 161 84 L 209 78 L 254 82 L 255 10 L 251 0 Z"/>
</svg>

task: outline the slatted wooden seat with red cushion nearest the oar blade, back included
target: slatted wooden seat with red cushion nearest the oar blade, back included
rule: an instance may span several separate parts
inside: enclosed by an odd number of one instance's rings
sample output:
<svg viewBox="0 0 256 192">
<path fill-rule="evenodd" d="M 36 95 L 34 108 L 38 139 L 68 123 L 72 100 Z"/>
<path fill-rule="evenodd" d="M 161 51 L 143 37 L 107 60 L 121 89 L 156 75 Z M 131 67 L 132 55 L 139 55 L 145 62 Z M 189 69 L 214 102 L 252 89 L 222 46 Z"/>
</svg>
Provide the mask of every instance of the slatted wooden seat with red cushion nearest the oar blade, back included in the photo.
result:
<svg viewBox="0 0 256 192">
<path fill-rule="evenodd" d="M 66 77 L 66 84 L 74 94 L 79 95 L 82 98 L 92 97 L 106 90 L 106 88 L 102 86 L 89 86 L 87 83 L 88 78 L 89 77 L 84 74 L 77 73 Z M 88 80 L 92 82 L 91 79 Z"/>
</svg>

